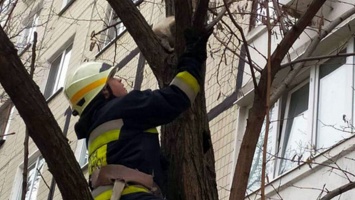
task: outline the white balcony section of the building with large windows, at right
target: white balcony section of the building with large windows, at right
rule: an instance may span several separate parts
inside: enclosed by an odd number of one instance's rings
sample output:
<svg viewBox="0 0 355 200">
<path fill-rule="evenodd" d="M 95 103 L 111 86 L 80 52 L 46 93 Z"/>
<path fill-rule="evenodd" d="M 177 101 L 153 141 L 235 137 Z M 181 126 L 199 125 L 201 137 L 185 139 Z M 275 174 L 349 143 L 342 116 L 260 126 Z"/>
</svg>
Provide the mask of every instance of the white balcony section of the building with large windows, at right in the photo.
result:
<svg viewBox="0 0 355 200">
<path fill-rule="evenodd" d="M 284 9 L 304 12 L 310 0 L 280 0 Z M 266 164 L 266 199 L 321 199 L 336 189 L 349 187 L 354 181 L 354 14 L 353 1 L 327 1 L 312 23 L 289 51 L 276 75 L 272 91 L 296 68 L 295 61 L 307 53 L 307 48 L 319 35 L 341 19 L 329 34 L 321 38 L 310 59 L 287 85 L 286 92 L 270 110 Z M 264 12 L 260 8 L 258 12 Z M 276 12 L 274 9 L 271 11 Z M 272 12 L 271 12 L 272 13 Z M 339 18 L 342 16 L 341 18 Z M 297 15 L 289 16 L 298 19 Z M 253 61 L 266 65 L 268 34 L 262 20 L 247 34 Z M 259 24 L 258 24 L 259 22 Z M 283 39 L 282 28 L 275 26 L 272 49 Z M 348 56 L 334 56 L 334 55 Z M 318 57 L 318 58 L 317 58 Z M 317 59 L 316 59 L 317 58 Z M 298 63 L 301 64 L 301 63 Z M 245 130 L 248 110 L 254 90 L 251 80 L 243 85 L 245 96 L 236 101 L 237 150 Z M 266 123 L 262 128 L 254 154 L 246 199 L 260 199 L 262 144 Z M 341 190 L 339 190 L 341 191 Z M 338 192 L 339 192 L 338 191 Z M 354 199 L 354 190 L 341 191 L 334 199 Z M 342 193 L 344 192 L 344 193 Z"/>
</svg>

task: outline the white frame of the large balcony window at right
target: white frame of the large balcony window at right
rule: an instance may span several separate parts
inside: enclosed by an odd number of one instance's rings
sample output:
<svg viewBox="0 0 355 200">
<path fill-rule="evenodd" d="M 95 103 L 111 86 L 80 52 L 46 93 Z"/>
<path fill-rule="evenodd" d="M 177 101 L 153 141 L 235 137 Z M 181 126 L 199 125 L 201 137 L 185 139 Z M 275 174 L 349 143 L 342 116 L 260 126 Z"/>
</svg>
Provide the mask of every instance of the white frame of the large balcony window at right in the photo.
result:
<svg viewBox="0 0 355 200">
<path fill-rule="evenodd" d="M 347 45 L 345 45 L 346 51 L 344 53 L 349 53 L 349 52 L 355 52 L 355 38 L 352 38 L 351 40 L 348 41 Z M 334 50 L 333 53 L 335 52 L 340 52 L 338 49 Z M 330 58 L 330 59 L 334 59 L 334 58 Z M 283 96 L 281 97 L 278 102 L 280 102 L 279 105 L 279 113 L 277 116 L 277 119 L 279 121 L 279 125 L 278 125 L 278 131 L 277 131 L 277 135 L 276 135 L 276 148 L 275 150 L 278 152 L 277 154 L 275 154 L 277 156 L 276 162 L 275 162 L 275 166 L 274 166 L 274 174 L 273 177 L 269 176 L 269 181 L 274 181 L 279 179 L 280 177 L 284 177 L 287 174 L 295 171 L 295 169 L 298 169 L 300 166 L 305 165 L 307 159 L 309 159 L 309 157 L 312 157 L 312 159 L 316 159 L 316 158 L 320 158 L 320 156 L 322 154 L 324 154 L 325 152 L 329 152 L 332 151 L 333 149 L 336 149 L 339 145 L 341 145 L 342 143 L 351 140 L 354 136 L 350 135 L 346 138 L 344 138 L 343 140 L 339 140 L 339 141 L 334 141 L 334 143 L 327 147 L 326 149 L 317 149 L 319 148 L 318 145 L 318 141 L 317 141 L 317 135 L 318 135 L 318 131 L 317 131 L 317 119 L 318 119 L 318 104 L 319 104 L 319 99 L 321 98 L 319 96 L 319 90 L 320 90 L 320 84 L 319 84 L 319 72 L 320 72 L 320 67 L 322 66 L 322 64 L 325 64 L 326 62 L 328 62 L 329 59 L 327 60 L 323 60 L 322 62 L 317 62 L 316 65 L 310 67 L 309 69 L 306 69 L 303 71 L 303 73 L 299 74 L 299 77 L 297 77 L 297 83 L 292 84 L 293 86 L 290 86 L 291 89 Z M 341 67 L 346 67 L 347 65 L 353 66 L 355 64 L 355 56 L 347 56 L 346 57 L 346 62 L 345 64 L 341 64 Z M 338 68 L 337 68 L 338 69 Z M 331 74 L 331 71 L 329 74 Z M 355 69 L 352 68 L 352 72 L 351 72 L 351 81 L 348 81 L 352 83 L 352 88 L 355 87 Z M 309 85 L 309 93 L 308 93 L 308 118 L 307 119 L 307 128 L 306 131 L 308 131 L 309 133 L 307 134 L 307 142 L 310 142 L 310 145 L 307 146 L 307 152 L 309 152 L 308 155 L 303 155 L 302 158 L 300 160 L 295 159 L 295 166 L 292 166 L 291 168 L 287 169 L 286 171 L 284 171 L 283 173 L 279 173 L 280 172 L 280 168 L 281 168 L 281 160 L 280 157 L 282 156 L 281 153 L 283 151 L 282 147 L 284 146 L 285 143 L 285 131 L 286 131 L 286 124 L 287 124 L 287 117 L 288 117 L 288 112 L 289 112 L 289 105 L 290 105 L 290 96 L 292 95 L 292 93 L 294 93 L 295 91 L 297 91 L 299 88 L 303 87 L 304 85 L 308 84 Z M 352 97 L 352 102 L 355 102 L 355 91 L 352 91 L 352 94 L 350 95 Z M 239 102 L 242 102 L 243 99 L 239 100 Z M 277 103 L 277 102 L 276 102 Z M 239 104 L 239 103 L 238 103 Z M 241 105 L 241 110 L 245 110 L 246 107 L 245 105 Z M 355 105 L 351 104 L 351 111 L 352 111 L 352 116 L 351 116 L 351 123 L 355 124 Z M 350 116 L 349 116 L 350 117 Z M 241 120 L 246 120 L 248 117 L 247 115 L 243 114 L 243 116 L 241 116 L 241 118 L 239 119 L 239 124 L 241 124 L 241 126 L 243 126 L 244 128 L 242 129 L 243 131 L 245 131 L 246 128 L 246 123 L 241 123 Z M 238 125 L 239 127 L 239 125 Z M 352 128 L 352 131 L 354 131 L 355 127 Z M 238 136 L 239 137 L 239 136 Z M 238 144 L 238 143 L 236 143 Z M 239 146 L 237 145 L 237 147 L 239 148 Z M 236 151 L 238 152 L 238 151 Z M 235 163 L 235 162 L 234 162 Z M 259 188 L 258 188 L 259 189 Z M 256 190 L 258 190 L 256 189 Z M 256 191 L 256 190 L 252 190 Z M 249 192 L 248 192 L 249 193 Z M 250 193 L 249 193 L 250 194 Z"/>
</svg>

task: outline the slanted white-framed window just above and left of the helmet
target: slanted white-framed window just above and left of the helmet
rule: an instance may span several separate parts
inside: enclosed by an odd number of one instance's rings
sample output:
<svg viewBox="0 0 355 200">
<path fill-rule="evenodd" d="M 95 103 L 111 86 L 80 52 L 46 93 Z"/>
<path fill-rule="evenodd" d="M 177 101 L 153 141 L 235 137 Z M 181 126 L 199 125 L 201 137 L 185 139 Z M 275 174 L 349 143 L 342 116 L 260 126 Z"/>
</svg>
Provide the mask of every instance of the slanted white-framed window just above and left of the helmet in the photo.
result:
<svg viewBox="0 0 355 200">
<path fill-rule="evenodd" d="M 64 86 L 72 45 L 65 49 L 52 63 L 49 71 L 44 97 L 47 99 Z"/>
</svg>

